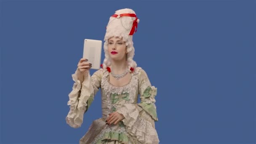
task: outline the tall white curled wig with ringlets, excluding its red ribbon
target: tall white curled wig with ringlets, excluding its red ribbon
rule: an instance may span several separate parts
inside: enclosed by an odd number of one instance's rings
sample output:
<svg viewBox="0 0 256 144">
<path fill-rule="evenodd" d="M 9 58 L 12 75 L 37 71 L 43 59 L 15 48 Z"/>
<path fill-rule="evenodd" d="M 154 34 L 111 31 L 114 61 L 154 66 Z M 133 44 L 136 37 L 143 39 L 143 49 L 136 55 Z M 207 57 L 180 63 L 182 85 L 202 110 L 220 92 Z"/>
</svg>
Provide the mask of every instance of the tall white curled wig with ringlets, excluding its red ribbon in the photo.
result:
<svg viewBox="0 0 256 144">
<path fill-rule="evenodd" d="M 133 35 L 129 35 L 131 29 L 133 27 L 133 23 L 136 20 L 135 17 L 131 16 L 120 16 L 123 13 L 133 13 L 136 14 L 132 9 L 124 8 L 115 11 L 115 15 L 117 17 L 111 16 L 109 18 L 109 22 L 107 24 L 106 34 L 104 37 L 104 52 L 105 52 L 105 59 L 103 61 L 102 67 L 103 69 L 107 69 L 111 65 L 109 53 L 108 53 L 108 41 L 111 37 L 119 37 L 120 39 L 123 38 L 125 45 L 127 47 L 127 54 L 126 54 L 126 61 L 128 63 L 129 69 L 131 67 L 137 67 L 135 61 L 133 61 L 134 56 L 134 47 L 133 47 Z M 139 19 L 136 20 L 139 23 Z"/>
</svg>

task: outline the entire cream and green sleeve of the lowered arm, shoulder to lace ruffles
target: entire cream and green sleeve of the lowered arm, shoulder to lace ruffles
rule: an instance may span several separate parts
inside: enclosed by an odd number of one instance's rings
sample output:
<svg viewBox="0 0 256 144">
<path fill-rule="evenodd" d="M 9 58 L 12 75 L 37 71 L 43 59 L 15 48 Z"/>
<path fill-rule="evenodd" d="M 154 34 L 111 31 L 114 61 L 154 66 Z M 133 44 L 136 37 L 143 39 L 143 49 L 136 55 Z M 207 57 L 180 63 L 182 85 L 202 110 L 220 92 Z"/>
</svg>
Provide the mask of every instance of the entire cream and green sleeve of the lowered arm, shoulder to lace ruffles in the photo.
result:
<svg viewBox="0 0 256 144">
<path fill-rule="evenodd" d="M 158 144 L 159 139 L 155 130 L 155 121 L 158 120 L 155 107 L 157 89 L 151 86 L 143 69 L 140 69 L 138 77 L 141 102 L 139 104 L 120 104 L 117 112 L 125 117 L 122 121 L 126 131 L 135 136 L 142 144 Z"/>
</svg>

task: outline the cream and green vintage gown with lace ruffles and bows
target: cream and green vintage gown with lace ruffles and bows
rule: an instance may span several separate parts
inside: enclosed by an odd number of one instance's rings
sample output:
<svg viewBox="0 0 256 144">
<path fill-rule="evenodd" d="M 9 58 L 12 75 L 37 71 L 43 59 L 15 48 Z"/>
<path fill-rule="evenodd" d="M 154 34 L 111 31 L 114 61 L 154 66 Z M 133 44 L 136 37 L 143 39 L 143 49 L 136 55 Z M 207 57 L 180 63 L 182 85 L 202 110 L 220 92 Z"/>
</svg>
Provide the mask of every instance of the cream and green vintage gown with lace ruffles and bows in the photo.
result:
<svg viewBox="0 0 256 144">
<path fill-rule="evenodd" d="M 78 70 L 78 69 L 77 69 Z M 101 88 L 102 118 L 94 120 L 89 130 L 80 139 L 80 144 L 158 144 L 155 130 L 157 113 L 155 96 L 157 88 L 151 85 L 146 72 L 135 67 L 127 85 L 115 87 L 109 83 L 107 69 L 99 69 L 92 76 L 86 74 L 83 83 L 77 79 L 77 70 L 72 74 L 74 85 L 69 93 L 70 110 L 67 124 L 79 128 L 84 113 L 90 107 L 94 96 Z M 137 103 L 140 94 L 141 102 Z M 117 125 L 106 125 L 109 113 L 119 112 L 124 119 Z"/>
</svg>

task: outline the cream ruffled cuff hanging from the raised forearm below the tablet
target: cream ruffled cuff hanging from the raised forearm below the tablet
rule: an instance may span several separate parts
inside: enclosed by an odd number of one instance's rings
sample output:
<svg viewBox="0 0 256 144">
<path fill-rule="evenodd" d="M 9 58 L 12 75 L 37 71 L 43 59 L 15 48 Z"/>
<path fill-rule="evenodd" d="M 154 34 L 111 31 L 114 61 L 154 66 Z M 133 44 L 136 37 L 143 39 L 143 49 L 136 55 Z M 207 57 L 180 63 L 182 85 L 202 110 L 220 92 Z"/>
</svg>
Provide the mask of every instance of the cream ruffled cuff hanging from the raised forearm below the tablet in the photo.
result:
<svg viewBox="0 0 256 144">
<path fill-rule="evenodd" d="M 90 91 L 86 92 L 88 88 L 85 88 L 85 86 L 89 85 L 88 83 L 91 83 L 91 80 L 90 74 L 87 73 L 87 77 L 85 77 L 81 88 L 80 80 L 77 78 L 77 70 L 75 74 L 72 74 L 72 78 L 75 84 L 72 88 L 73 90 L 69 93 L 69 101 L 67 104 L 70 109 L 66 117 L 66 122 L 72 128 L 79 128 L 83 123 L 83 114 L 88 106 L 87 102 L 92 97 Z"/>
</svg>

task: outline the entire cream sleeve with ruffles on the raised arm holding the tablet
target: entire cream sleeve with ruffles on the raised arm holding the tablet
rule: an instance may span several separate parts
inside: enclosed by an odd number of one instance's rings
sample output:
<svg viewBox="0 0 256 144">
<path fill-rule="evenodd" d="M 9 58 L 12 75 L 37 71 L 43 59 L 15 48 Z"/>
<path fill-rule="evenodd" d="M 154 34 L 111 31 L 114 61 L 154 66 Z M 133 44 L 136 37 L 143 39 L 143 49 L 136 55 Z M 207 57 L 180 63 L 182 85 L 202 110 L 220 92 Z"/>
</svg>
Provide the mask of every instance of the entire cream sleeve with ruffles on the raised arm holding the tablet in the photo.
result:
<svg viewBox="0 0 256 144">
<path fill-rule="evenodd" d="M 66 122 L 72 128 L 79 128 L 83 123 L 83 115 L 90 107 L 95 94 L 99 91 L 102 72 L 101 69 L 94 72 L 91 76 L 89 72 L 85 73 L 83 83 L 77 78 L 78 69 L 72 74 L 72 79 L 75 82 L 72 91 L 69 93 L 69 112 L 66 117 Z"/>
</svg>

